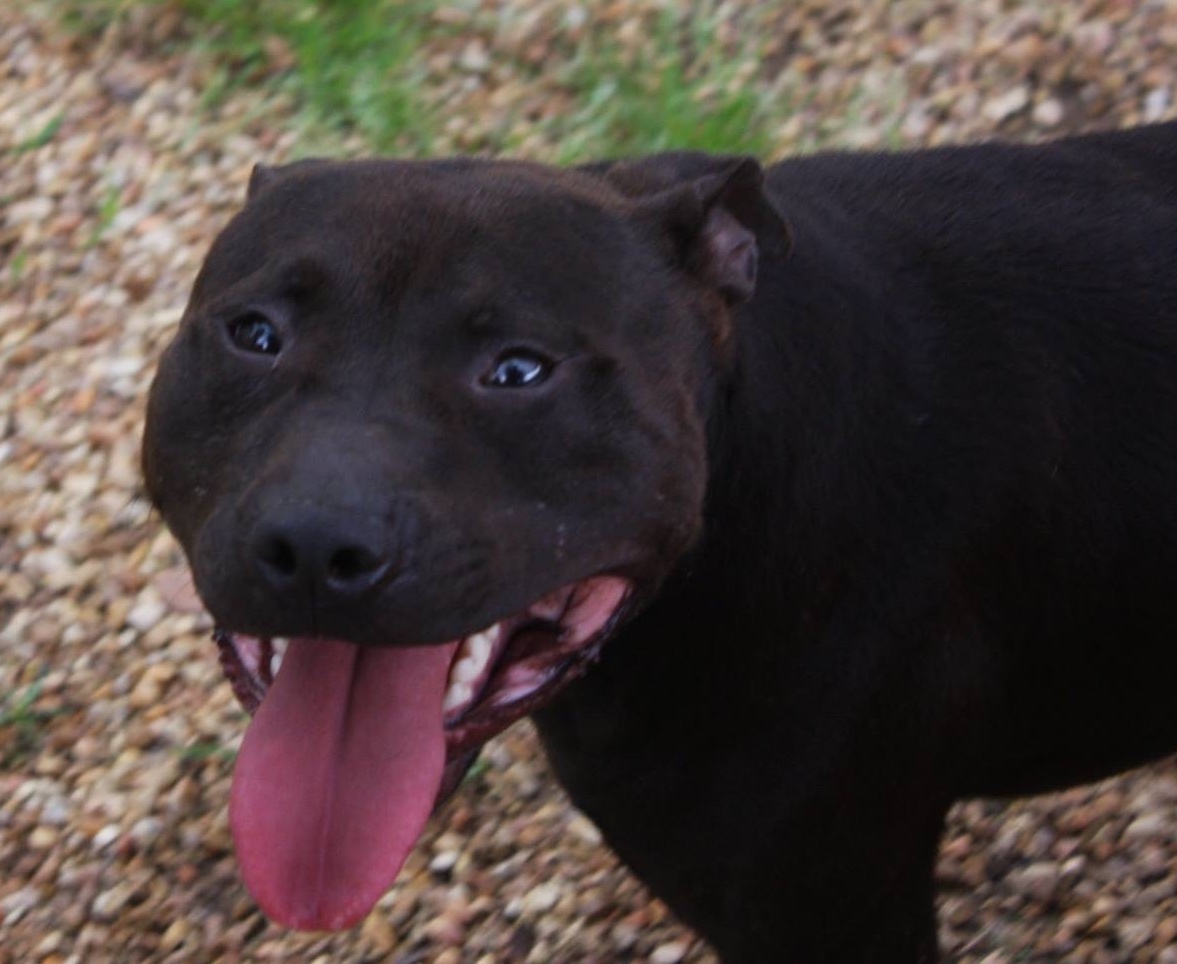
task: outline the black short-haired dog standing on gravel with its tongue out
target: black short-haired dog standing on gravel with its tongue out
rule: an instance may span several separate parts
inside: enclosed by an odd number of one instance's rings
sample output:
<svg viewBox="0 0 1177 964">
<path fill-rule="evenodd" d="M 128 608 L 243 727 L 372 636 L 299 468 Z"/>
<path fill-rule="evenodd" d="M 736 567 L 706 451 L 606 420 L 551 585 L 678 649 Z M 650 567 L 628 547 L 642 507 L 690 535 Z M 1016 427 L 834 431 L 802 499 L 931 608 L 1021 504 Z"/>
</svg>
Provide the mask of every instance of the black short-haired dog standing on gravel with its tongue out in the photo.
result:
<svg viewBox="0 0 1177 964">
<path fill-rule="evenodd" d="M 533 714 L 724 960 L 930 962 L 953 800 L 1177 749 L 1177 125 L 258 167 L 142 454 L 274 920 Z"/>
</svg>

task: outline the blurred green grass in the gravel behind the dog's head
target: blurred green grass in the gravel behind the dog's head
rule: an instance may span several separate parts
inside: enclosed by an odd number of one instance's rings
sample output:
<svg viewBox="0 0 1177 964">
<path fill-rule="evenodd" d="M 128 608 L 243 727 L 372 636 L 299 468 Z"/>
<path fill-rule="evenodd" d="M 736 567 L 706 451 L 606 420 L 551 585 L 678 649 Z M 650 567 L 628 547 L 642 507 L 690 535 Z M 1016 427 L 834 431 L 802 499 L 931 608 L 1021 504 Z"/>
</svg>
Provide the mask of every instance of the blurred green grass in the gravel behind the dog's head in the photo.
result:
<svg viewBox="0 0 1177 964">
<path fill-rule="evenodd" d="M 473 14 L 466 28 L 438 22 L 431 14 L 444 6 L 439 0 L 54 2 L 74 29 L 89 32 L 112 18 L 141 14 L 145 6 L 179 9 L 187 24 L 185 44 L 195 45 L 213 65 L 205 107 L 215 108 L 242 87 L 286 91 L 299 105 L 301 152 L 330 153 L 344 134 L 359 134 L 372 152 L 435 153 L 452 107 L 438 102 L 425 54 L 435 41 L 476 33 L 493 46 L 499 25 L 497 14 L 487 12 Z M 783 107 L 765 105 L 754 85 L 742 82 L 742 65 L 756 59 L 756 24 L 742 27 L 750 39 L 733 51 L 719 42 L 719 25 L 707 7 L 667 9 L 645 25 L 637 45 L 626 47 L 616 36 L 616 24 L 593 21 L 596 6 L 590 4 L 576 45 L 557 32 L 541 67 L 511 64 L 520 82 L 554 82 L 567 97 L 567 109 L 494 127 L 468 149 L 518 153 L 528 134 L 538 132 L 557 145 L 559 161 L 672 147 L 763 153 L 769 111 L 779 117 Z M 492 49 L 492 56 L 498 62 L 511 52 Z"/>
</svg>

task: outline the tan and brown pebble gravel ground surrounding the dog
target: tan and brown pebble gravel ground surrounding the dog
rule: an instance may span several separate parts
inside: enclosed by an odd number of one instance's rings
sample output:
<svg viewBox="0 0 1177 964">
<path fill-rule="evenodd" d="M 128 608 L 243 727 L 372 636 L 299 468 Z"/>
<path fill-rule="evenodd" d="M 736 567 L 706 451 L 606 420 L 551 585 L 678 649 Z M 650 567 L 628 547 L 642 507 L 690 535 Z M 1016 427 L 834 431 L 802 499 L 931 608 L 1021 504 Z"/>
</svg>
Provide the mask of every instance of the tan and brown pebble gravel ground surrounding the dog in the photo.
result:
<svg viewBox="0 0 1177 964">
<path fill-rule="evenodd" d="M 614 18 L 637 55 L 659 5 L 497 6 L 439 14 L 463 28 L 428 53 L 426 89 L 453 118 L 439 151 L 533 115 L 511 105 L 558 102 L 524 67 L 553 32 L 574 40 L 577 11 Z M 1172 2 L 780 6 L 744 80 L 794 105 L 772 132 L 782 154 L 1173 115 Z M 290 935 L 254 910 L 225 819 L 244 718 L 206 618 L 179 601 L 137 446 L 202 248 L 297 127 L 272 97 L 202 113 L 207 68 L 149 53 L 173 18 L 82 44 L 16 7 L 0 7 L 0 962 L 713 960 L 568 806 L 526 725 L 491 745 L 361 928 Z M 525 149 L 552 152 L 541 125 Z M 958 807 L 949 957 L 1177 964 L 1175 804 L 1165 764 Z"/>
</svg>

